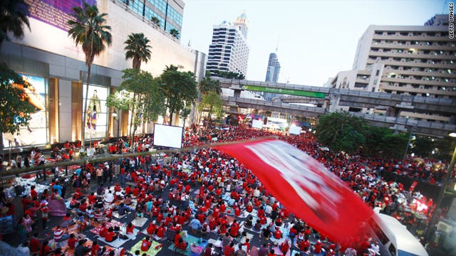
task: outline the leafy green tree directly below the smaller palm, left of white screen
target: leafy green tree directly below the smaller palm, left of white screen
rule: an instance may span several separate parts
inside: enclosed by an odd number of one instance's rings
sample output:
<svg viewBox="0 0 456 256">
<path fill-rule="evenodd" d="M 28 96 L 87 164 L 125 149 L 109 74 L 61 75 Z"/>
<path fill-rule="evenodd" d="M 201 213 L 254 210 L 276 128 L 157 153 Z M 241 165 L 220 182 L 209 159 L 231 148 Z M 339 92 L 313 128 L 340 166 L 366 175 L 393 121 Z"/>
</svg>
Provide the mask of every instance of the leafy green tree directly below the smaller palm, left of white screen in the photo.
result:
<svg viewBox="0 0 456 256">
<path fill-rule="evenodd" d="M 115 93 L 108 96 L 106 105 L 130 111 L 131 139 L 140 124 L 152 122 L 165 113 L 165 99 L 157 81 L 147 71 L 129 68 L 123 73 L 124 81 Z"/>
</svg>

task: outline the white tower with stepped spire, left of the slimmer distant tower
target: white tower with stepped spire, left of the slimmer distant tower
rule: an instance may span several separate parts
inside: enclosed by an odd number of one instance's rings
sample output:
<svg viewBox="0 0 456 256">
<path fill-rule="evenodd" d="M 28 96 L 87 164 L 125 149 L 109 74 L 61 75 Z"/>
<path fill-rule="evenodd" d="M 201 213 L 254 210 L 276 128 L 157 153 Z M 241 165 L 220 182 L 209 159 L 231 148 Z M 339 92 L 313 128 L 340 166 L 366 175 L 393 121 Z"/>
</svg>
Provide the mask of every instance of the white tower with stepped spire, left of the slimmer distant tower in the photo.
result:
<svg viewBox="0 0 456 256">
<path fill-rule="evenodd" d="M 223 21 L 220 25 L 214 25 L 206 65 L 206 70 L 212 75 L 216 75 L 215 70 L 243 75 L 247 73 L 249 46 L 244 13 L 237 18 L 235 24 Z"/>
</svg>

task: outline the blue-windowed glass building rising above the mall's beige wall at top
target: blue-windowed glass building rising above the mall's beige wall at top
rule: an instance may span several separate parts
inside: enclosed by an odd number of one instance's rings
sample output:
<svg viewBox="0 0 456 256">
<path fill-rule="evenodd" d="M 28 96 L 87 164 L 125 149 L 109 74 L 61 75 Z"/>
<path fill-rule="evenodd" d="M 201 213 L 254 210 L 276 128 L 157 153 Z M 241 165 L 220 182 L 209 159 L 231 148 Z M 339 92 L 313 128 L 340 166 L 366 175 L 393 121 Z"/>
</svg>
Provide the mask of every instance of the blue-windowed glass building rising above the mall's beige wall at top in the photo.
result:
<svg viewBox="0 0 456 256">
<path fill-rule="evenodd" d="M 136 14 L 150 21 L 152 17 L 158 19 L 157 26 L 170 33 L 176 29 L 182 34 L 182 16 L 184 15 L 185 3 L 182 0 L 147 0 L 132 1 L 120 0 L 128 5 L 128 8 Z"/>
</svg>

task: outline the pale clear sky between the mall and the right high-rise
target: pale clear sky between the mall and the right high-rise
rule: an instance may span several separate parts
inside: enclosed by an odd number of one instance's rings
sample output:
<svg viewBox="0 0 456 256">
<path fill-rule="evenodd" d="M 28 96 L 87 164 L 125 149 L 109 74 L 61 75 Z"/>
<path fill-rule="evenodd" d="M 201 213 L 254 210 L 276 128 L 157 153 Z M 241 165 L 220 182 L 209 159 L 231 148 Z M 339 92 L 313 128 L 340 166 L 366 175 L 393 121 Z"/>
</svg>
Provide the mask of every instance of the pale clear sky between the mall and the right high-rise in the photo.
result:
<svg viewBox="0 0 456 256">
<path fill-rule="evenodd" d="M 184 0 L 181 44 L 208 53 L 212 26 L 246 12 L 247 80 L 264 81 L 276 52 L 279 82 L 322 86 L 351 70 L 369 25 L 423 25 L 448 13 L 448 0 Z"/>
</svg>

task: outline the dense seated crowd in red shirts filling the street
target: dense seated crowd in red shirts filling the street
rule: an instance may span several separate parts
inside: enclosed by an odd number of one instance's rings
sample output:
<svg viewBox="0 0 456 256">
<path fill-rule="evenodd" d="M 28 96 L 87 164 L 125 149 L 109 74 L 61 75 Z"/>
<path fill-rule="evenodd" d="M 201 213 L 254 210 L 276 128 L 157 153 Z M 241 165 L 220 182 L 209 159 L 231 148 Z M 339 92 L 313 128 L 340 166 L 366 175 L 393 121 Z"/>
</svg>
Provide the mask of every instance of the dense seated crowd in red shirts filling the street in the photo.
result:
<svg viewBox="0 0 456 256">
<path fill-rule="evenodd" d="M 402 172 L 407 169 L 410 177 L 437 178 L 438 175 L 430 171 L 423 174 L 423 166 L 411 161 L 410 164 L 402 164 L 394 160 L 366 159 L 323 151 L 310 134 L 296 136 L 244 126 L 201 129 L 192 125 L 185 130 L 183 146 L 194 149 L 178 156 L 163 156 L 163 159 L 171 159 L 169 163 L 146 155 L 87 164 L 85 169 L 77 169 L 73 174 L 73 180 L 77 183 L 76 191 L 69 201 L 71 210 L 53 230 L 53 240 L 68 239 L 68 247 L 74 249 L 74 254 L 84 255 L 90 249 L 85 247 L 86 240 L 81 238 L 83 232 L 97 225 L 104 227 L 99 235 L 105 241 L 122 239 L 120 229 L 123 228 L 127 235 L 133 233 L 135 226 L 132 223 L 125 227 L 110 228 L 105 223 L 113 215 L 133 213 L 135 218 L 147 217 L 150 220 L 146 228 L 150 236 L 142 240 L 144 251 L 150 247 L 151 239 L 161 240 L 172 236 L 170 240 L 177 250 L 190 247 L 192 252 L 201 250 L 202 255 L 247 255 L 252 243 L 247 238 L 247 230 L 251 230 L 259 233 L 259 240 L 255 241 L 259 243 L 258 255 L 286 255 L 293 249 L 299 255 L 353 255 L 354 251 L 358 255 L 378 254 L 378 244 L 366 234 L 360 235 L 351 246 L 328 240 L 326 234 L 312 229 L 305 220 L 294 218 L 293 213 L 276 201 L 242 163 L 210 147 L 214 137 L 217 137 L 218 142 L 230 142 L 271 135 L 321 161 L 369 206 L 395 216 L 410 229 L 418 230 L 418 226 L 425 225 L 427 221 L 413 214 L 416 211 L 414 199 L 419 198 L 428 206 L 422 215 L 432 213 L 432 200 L 405 191 L 402 184 L 386 181 L 382 176 L 385 171 Z M 150 137 L 136 138 L 133 148 L 135 151 L 144 151 L 148 149 L 145 145 L 150 144 Z M 410 171 L 413 169 L 417 172 Z M 118 183 L 105 186 L 113 181 Z M 96 191 L 88 189 L 90 183 L 97 183 Z M 65 186 L 62 185 L 62 181 L 53 181 L 49 189 L 41 194 L 31 188 L 30 195 L 22 198 L 24 217 L 19 221 L 19 233 L 24 246 L 21 247 L 28 245 L 29 250 L 38 255 L 63 255 L 59 247 L 51 250 L 48 245 L 50 238 L 38 241 L 38 234 L 32 231 L 38 221 L 46 229 L 48 201 L 65 197 Z M 2 216 L 15 214 L 11 198 L 6 198 L 3 189 L 0 191 L 0 203 Z M 76 232 L 70 234 L 66 230 L 64 234 L 62 227 L 68 228 L 71 224 L 77 225 Z M 181 235 L 185 227 L 192 234 L 216 234 L 222 242 L 217 250 L 213 244 L 207 245 L 204 250 L 195 244 L 189 245 Z M 92 255 L 120 253 L 113 250 L 103 252 L 103 247 L 98 246 L 96 240 L 91 251 Z"/>
</svg>

